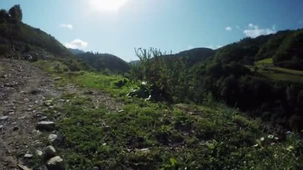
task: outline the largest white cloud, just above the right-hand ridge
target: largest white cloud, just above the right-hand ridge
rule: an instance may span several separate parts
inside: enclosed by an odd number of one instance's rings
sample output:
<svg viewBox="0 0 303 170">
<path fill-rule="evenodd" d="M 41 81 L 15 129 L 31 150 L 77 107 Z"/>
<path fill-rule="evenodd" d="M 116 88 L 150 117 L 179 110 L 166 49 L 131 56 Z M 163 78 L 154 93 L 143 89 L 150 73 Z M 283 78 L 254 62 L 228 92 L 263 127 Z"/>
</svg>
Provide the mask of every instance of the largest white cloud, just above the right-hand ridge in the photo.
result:
<svg viewBox="0 0 303 170">
<path fill-rule="evenodd" d="M 245 36 L 247 37 L 258 37 L 260 35 L 268 35 L 268 34 L 273 34 L 276 33 L 276 25 L 273 25 L 272 28 L 259 28 L 258 25 L 254 25 L 252 23 L 248 24 L 248 29 L 245 29 L 243 31 L 243 33 L 245 34 Z"/>
</svg>

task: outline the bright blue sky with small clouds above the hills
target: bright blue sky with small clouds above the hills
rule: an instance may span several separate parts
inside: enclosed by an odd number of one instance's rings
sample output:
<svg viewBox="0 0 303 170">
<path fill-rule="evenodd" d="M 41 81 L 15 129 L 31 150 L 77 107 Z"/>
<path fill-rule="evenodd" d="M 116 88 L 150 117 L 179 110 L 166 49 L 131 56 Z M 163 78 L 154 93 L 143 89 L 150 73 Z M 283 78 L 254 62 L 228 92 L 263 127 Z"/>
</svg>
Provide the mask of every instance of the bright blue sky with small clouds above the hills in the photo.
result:
<svg viewBox="0 0 303 170">
<path fill-rule="evenodd" d="M 63 45 L 137 60 L 134 48 L 219 48 L 303 27 L 303 0 L 0 0 Z"/>
</svg>

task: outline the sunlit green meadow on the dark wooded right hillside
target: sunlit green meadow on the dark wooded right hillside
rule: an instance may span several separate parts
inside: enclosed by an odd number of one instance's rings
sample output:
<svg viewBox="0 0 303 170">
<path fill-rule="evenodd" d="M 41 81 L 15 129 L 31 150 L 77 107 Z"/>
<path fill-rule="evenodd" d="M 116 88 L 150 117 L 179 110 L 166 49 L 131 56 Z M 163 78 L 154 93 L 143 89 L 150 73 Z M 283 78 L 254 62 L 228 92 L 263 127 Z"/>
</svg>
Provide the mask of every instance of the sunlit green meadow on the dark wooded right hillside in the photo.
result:
<svg viewBox="0 0 303 170">
<path fill-rule="evenodd" d="M 255 62 L 255 66 L 247 66 L 251 71 L 254 67 L 258 68 L 257 72 L 267 78 L 273 80 L 291 81 L 294 83 L 303 84 L 303 71 L 285 69 L 276 67 L 273 64 L 273 59 L 264 59 Z"/>
</svg>

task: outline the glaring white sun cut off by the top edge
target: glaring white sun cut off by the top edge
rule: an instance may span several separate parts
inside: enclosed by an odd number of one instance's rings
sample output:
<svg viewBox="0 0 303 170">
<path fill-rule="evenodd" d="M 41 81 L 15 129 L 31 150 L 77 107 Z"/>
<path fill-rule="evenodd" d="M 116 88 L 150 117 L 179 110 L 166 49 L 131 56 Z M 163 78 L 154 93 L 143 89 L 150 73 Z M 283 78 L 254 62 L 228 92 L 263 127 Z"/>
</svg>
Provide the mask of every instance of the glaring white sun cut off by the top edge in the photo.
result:
<svg viewBox="0 0 303 170">
<path fill-rule="evenodd" d="M 127 0 L 89 0 L 92 9 L 100 12 L 118 11 Z"/>
</svg>

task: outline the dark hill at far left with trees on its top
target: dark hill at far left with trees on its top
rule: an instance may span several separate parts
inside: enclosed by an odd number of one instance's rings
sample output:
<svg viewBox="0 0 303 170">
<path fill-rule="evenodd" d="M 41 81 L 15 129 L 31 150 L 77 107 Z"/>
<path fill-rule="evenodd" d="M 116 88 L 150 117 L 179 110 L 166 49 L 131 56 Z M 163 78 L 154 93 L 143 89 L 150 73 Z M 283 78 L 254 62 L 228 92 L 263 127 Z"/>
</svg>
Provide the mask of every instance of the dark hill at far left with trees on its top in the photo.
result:
<svg viewBox="0 0 303 170">
<path fill-rule="evenodd" d="M 22 22 L 22 10 L 14 5 L 7 12 L 0 10 L 0 55 L 11 55 L 11 46 L 18 55 L 31 54 L 35 60 L 56 59 L 71 70 L 85 68 L 55 37 Z"/>
</svg>

